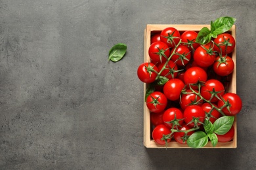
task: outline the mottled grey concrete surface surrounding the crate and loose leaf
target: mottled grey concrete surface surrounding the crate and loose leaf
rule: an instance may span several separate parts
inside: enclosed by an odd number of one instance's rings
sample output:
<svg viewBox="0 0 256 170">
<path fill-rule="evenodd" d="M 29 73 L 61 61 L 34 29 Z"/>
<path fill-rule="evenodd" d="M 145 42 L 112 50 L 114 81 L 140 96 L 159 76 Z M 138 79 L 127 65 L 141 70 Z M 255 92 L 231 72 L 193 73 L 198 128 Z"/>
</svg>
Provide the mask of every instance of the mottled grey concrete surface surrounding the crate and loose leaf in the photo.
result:
<svg viewBox="0 0 256 170">
<path fill-rule="evenodd" d="M 256 169 L 256 3 L 0 1 L 0 169 Z M 237 149 L 146 149 L 146 24 L 237 18 Z M 108 61 L 108 50 L 127 55 Z"/>
</svg>

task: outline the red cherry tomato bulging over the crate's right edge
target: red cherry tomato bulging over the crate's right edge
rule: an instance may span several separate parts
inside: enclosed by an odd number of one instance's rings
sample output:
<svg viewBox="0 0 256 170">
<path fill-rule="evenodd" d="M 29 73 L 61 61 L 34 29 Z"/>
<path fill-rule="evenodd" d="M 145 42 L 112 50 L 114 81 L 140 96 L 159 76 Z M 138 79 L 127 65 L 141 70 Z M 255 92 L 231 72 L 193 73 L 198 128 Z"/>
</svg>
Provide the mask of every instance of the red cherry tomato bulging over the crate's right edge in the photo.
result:
<svg viewBox="0 0 256 170">
<path fill-rule="evenodd" d="M 224 107 L 222 111 L 226 116 L 234 116 L 240 112 L 242 109 L 242 99 L 236 93 L 225 93 L 223 95 L 224 101 L 227 101 L 229 105 Z M 224 105 L 223 100 L 218 101 L 218 107 L 221 108 Z M 229 111 L 229 110 L 230 111 Z"/>
</svg>

